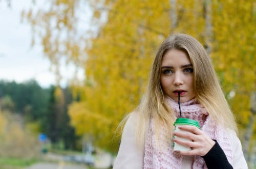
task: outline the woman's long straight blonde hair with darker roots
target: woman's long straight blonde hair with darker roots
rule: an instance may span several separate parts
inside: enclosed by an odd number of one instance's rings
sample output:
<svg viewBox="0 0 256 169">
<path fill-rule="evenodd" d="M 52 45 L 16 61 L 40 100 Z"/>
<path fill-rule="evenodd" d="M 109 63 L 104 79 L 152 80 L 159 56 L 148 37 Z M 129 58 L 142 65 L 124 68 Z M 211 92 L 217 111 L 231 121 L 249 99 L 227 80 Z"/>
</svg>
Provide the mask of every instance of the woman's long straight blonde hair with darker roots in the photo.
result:
<svg viewBox="0 0 256 169">
<path fill-rule="evenodd" d="M 215 70 L 204 47 L 195 38 L 185 34 L 169 36 L 160 45 L 153 62 L 146 92 L 134 113 L 138 114 L 136 135 L 143 146 L 150 119 L 154 121 L 158 135 L 160 126 L 167 129 L 170 142 L 175 115 L 172 108 L 164 102 L 164 93 L 160 84 L 163 55 L 171 49 L 186 52 L 194 69 L 194 90 L 198 101 L 206 108 L 209 116 L 219 125 L 237 131 L 237 125 L 230 107 L 224 97 Z"/>
</svg>

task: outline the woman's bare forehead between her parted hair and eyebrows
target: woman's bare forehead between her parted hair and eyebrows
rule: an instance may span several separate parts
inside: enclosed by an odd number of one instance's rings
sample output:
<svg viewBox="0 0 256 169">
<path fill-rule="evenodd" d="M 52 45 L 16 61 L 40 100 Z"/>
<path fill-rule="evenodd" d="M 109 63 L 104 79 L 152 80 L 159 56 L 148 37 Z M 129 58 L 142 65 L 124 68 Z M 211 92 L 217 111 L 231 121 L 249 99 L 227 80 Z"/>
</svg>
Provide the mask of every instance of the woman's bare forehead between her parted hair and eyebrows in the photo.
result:
<svg viewBox="0 0 256 169">
<path fill-rule="evenodd" d="M 191 64 L 188 54 L 183 50 L 170 49 L 162 57 L 162 66 Z"/>
</svg>

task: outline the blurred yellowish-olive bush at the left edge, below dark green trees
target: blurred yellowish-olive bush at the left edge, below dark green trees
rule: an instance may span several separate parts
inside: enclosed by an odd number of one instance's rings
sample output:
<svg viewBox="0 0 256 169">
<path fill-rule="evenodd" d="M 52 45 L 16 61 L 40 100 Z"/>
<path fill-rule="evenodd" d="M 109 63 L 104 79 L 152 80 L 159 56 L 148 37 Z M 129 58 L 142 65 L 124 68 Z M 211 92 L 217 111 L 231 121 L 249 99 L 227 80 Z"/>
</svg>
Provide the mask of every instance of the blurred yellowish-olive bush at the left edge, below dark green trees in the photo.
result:
<svg viewBox="0 0 256 169">
<path fill-rule="evenodd" d="M 18 114 L 8 110 L 0 111 L 0 156 L 35 158 L 38 155 L 37 137 Z"/>
</svg>

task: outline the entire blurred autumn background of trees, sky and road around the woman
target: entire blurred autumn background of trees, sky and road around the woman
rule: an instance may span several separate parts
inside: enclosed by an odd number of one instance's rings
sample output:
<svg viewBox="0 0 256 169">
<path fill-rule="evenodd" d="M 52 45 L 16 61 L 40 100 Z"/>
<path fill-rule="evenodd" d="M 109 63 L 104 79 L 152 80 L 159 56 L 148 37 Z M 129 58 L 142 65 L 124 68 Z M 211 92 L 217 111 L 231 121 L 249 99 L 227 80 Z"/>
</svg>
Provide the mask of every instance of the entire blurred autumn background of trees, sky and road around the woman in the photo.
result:
<svg viewBox="0 0 256 169">
<path fill-rule="evenodd" d="M 256 168 L 255 1 L 2 0 L 0 14 L 1 168 L 112 168 L 172 33 L 204 45 Z"/>
</svg>

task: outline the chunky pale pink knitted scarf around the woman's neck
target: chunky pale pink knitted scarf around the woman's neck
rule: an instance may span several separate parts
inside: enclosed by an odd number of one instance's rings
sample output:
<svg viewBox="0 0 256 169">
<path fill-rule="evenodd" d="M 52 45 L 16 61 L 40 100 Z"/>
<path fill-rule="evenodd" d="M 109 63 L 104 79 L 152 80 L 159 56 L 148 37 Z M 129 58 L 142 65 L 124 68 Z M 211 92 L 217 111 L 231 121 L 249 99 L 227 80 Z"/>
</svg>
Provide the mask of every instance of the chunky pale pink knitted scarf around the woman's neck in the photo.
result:
<svg viewBox="0 0 256 169">
<path fill-rule="evenodd" d="M 174 109 L 176 117 L 180 118 L 178 103 L 169 97 L 165 98 L 165 101 Z M 183 118 L 197 120 L 201 130 L 204 131 L 211 139 L 217 140 L 226 154 L 228 161 L 231 162 L 233 158 L 232 148 L 227 137 L 226 130 L 223 127 L 220 127 L 208 116 L 208 112 L 197 101 L 197 99 L 191 99 L 188 102 L 181 103 L 181 110 Z M 154 121 L 150 121 L 144 148 L 144 169 L 181 168 L 182 155 L 174 152 L 171 147 L 161 149 L 161 147 L 166 145 L 166 139 L 164 139 L 166 138 L 166 133 L 167 130 L 162 127 L 160 129 L 159 138 L 157 138 L 155 134 Z M 207 168 L 202 157 L 195 155 L 193 156 L 193 159 L 192 168 Z"/>
</svg>

